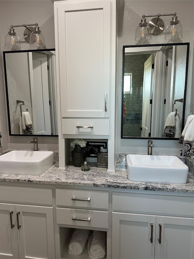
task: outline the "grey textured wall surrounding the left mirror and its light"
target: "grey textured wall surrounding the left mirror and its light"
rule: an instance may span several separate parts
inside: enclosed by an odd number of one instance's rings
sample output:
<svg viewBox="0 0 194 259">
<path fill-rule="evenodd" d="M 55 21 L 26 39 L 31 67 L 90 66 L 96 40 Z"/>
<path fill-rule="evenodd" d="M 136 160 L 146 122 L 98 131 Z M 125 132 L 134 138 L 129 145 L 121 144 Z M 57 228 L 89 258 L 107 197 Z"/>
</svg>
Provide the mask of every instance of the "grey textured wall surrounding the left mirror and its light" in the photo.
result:
<svg viewBox="0 0 194 259">
<path fill-rule="evenodd" d="M 0 129 L 2 131 L 2 150 L 6 149 L 33 149 L 33 144 L 27 144 L 27 141 L 30 140 L 29 136 L 9 136 L 8 134 L 8 122 L 6 120 L 7 117 L 7 109 L 5 109 L 5 95 L 4 93 L 4 70 L 2 59 L 2 51 L 8 51 L 9 49 L 5 47 L 5 36 L 9 31 L 10 25 L 16 24 L 30 24 L 30 23 L 38 23 L 40 26 L 40 30 L 42 31 L 46 48 L 52 49 L 55 48 L 55 29 L 54 29 L 54 5 L 50 0 L 0 0 Z M 23 32 L 23 27 L 15 28 L 15 32 L 17 32 L 21 41 L 21 50 L 35 49 L 30 46 L 29 43 L 25 42 Z M 15 61 L 16 62 L 16 61 Z M 3 75 L 3 77 L 1 76 Z M 23 101 L 23 100 L 22 100 Z M 5 145 L 5 141 L 8 142 Z M 38 137 L 38 147 L 41 150 L 59 150 L 58 147 L 58 138 L 57 137 Z"/>
</svg>

